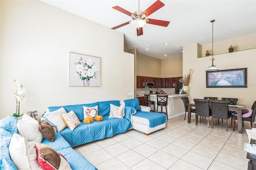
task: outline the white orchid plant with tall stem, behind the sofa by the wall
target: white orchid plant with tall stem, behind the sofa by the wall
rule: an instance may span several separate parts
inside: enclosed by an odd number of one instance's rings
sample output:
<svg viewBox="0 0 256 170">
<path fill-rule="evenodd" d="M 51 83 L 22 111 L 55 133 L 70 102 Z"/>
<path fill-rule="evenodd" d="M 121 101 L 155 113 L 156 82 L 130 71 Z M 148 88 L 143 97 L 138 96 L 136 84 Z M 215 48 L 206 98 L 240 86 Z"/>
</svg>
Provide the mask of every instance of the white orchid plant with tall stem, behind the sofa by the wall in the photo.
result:
<svg viewBox="0 0 256 170">
<path fill-rule="evenodd" d="M 15 99 L 16 99 L 16 113 L 13 114 L 15 117 L 21 117 L 20 115 L 20 103 L 25 101 L 25 95 L 24 93 L 26 92 L 26 89 L 23 87 L 22 83 L 18 83 L 14 79 L 14 84 L 16 86 L 16 93 L 13 93 Z"/>
</svg>

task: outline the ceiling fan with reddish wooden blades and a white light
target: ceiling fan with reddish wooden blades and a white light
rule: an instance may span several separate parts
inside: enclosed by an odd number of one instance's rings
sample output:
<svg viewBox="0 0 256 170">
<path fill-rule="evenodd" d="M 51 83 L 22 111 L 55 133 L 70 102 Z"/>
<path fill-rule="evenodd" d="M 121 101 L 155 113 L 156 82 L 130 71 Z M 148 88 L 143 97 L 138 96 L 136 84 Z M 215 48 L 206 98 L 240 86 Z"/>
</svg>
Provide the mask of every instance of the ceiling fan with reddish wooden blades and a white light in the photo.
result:
<svg viewBox="0 0 256 170">
<path fill-rule="evenodd" d="M 132 26 L 134 26 L 136 28 L 137 36 L 141 36 L 141 35 L 143 35 L 142 27 L 146 23 L 157 25 L 157 26 L 167 27 L 168 24 L 170 23 L 169 21 L 155 20 L 155 19 L 150 19 L 150 18 L 146 19 L 146 17 L 150 16 L 150 14 L 156 12 L 163 6 L 164 6 L 164 3 L 162 3 L 160 0 L 157 0 L 156 2 L 154 2 L 154 4 L 152 4 L 150 7 L 148 7 L 148 9 L 141 11 L 140 10 L 140 0 L 138 0 L 138 10 L 135 11 L 134 13 L 131 13 L 131 12 L 125 10 L 124 8 L 121 8 L 120 6 L 113 6 L 112 7 L 113 9 L 118 10 L 119 12 L 122 12 L 122 13 L 132 17 L 132 21 L 125 22 L 124 24 L 120 24 L 119 26 L 115 26 L 111 29 L 115 30 L 115 29 L 125 26 L 127 24 L 131 24 Z"/>
</svg>

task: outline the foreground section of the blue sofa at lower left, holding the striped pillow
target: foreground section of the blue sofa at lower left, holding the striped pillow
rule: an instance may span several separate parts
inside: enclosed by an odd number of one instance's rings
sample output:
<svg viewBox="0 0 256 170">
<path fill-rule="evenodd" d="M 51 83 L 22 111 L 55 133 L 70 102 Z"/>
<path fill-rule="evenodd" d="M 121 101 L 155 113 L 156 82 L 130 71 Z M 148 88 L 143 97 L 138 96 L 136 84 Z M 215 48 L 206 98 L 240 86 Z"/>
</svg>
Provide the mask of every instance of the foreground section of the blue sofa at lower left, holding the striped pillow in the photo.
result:
<svg viewBox="0 0 256 170">
<path fill-rule="evenodd" d="M 9 144 L 17 130 L 18 119 L 16 117 L 6 117 L 0 120 L 0 170 L 17 170 L 9 154 Z M 97 170 L 88 160 L 76 152 L 70 144 L 58 132 L 55 133 L 55 141 L 49 142 L 43 138 L 42 142 L 48 144 L 58 153 L 62 154 L 73 170 L 86 168 L 87 170 Z M 79 162 L 79 164 L 77 164 Z"/>
</svg>

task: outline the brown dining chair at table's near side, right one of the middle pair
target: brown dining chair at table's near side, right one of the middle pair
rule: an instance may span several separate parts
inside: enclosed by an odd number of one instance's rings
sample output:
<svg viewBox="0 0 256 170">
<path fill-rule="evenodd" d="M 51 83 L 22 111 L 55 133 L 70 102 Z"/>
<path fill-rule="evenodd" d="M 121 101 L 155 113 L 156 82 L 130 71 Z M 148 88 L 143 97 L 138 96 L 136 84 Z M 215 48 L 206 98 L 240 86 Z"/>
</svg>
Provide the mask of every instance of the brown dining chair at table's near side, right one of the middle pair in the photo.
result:
<svg viewBox="0 0 256 170">
<path fill-rule="evenodd" d="M 231 113 L 228 113 L 228 101 L 210 100 L 210 103 L 212 109 L 212 128 L 213 123 L 216 123 L 216 118 L 226 119 L 226 131 L 228 131 L 228 127 L 230 127 L 230 117 L 232 116 Z"/>
</svg>

